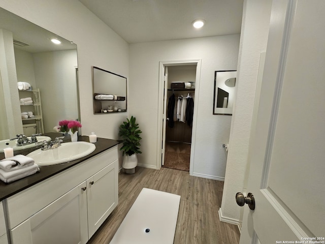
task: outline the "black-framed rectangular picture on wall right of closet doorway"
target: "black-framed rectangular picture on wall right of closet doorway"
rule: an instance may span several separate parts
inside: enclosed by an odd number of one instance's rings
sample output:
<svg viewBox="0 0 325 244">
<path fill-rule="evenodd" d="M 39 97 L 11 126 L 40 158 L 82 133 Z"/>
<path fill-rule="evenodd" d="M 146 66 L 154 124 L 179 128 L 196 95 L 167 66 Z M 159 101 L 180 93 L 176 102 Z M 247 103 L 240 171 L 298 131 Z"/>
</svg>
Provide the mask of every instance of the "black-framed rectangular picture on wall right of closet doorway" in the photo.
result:
<svg viewBox="0 0 325 244">
<path fill-rule="evenodd" d="M 236 76 L 236 70 L 214 72 L 213 114 L 233 114 L 237 87 Z"/>
</svg>

